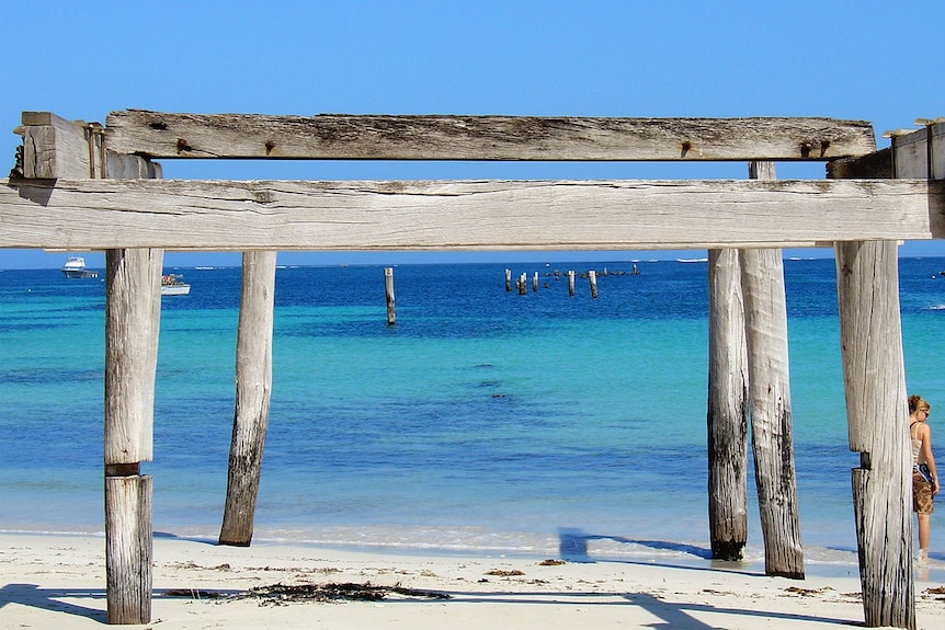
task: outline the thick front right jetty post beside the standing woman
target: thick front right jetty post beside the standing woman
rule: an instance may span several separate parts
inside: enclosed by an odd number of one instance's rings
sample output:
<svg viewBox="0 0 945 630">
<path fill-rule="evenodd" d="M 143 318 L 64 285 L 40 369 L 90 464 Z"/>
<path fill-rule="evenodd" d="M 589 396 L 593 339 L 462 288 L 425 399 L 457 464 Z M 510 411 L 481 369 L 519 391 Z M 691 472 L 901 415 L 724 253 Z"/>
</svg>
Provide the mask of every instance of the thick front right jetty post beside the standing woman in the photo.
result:
<svg viewBox="0 0 945 630">
<path fill-rule="evenodd" d="M 840 347 L 866 626 L 915 628 L 912 451 L 893 241 L 839 242 Z"/>
</svg>

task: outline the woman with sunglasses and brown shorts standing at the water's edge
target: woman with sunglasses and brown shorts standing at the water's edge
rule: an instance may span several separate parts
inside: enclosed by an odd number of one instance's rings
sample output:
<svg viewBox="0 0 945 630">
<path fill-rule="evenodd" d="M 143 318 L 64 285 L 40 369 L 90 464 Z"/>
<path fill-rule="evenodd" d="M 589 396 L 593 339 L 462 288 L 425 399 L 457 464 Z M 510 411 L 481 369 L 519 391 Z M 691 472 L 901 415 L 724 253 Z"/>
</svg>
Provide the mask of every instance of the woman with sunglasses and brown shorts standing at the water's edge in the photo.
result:
<svg viewBox="0 0 945 630">
<path fill-rule="evenodd" d="M 938 471 L 932 455 L 932 408 L 918 396 L 909 397 L 909 437 L 912 438 L 912 511 L 919 518 L 919 562 L 929 561 L 934 496 L 938 494 Z M 924 466 L 923 466 L 924 465 Z"/>
</svg>

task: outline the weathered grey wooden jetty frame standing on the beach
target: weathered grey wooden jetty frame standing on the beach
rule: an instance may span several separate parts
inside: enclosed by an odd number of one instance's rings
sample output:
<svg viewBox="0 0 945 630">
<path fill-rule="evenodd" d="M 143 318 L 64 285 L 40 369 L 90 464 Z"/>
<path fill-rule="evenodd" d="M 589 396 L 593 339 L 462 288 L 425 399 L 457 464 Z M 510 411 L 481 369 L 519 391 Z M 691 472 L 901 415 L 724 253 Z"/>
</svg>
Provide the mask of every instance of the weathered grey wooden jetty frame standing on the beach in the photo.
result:
<svg viewBox="0 0 945 630">
<path fill-rule="evenodd" d="M 709 250 L 711 548 L 738 557 L 744 543 L 750 421 L 765 571 L 802 577 L 781 248 L 832 247 L 850 448 L 861 454 L 852 491 L 865 623 L 915 627 L 896 254 L 899 241 L 945 236 L 942 119 L 895 134 L 883 151 L 869 123 L 816 117 L 132 110 L 109 114 L 105 125 L 25 112 L 18 131 L 23 147 L 0 186 L 0 248 L 106 252 L 110 623 L 150 621 L 151 480 L 140 474 L 140 462 L 152 458 L 157 278 L 164 250 L 244 253 L 220 535 L 232 545 L 249 545 L 252 536 L 272 379 L 275 252 Z M 752 164 L 752 177 L 170 181 L 160 179 L 156 161 L 224 158 L 742 161 Z M 824 162 L 828 179 L 775 180 L 779 161 Z M 572 275 L 569 283 L 573 291 Z"/>
</svg>

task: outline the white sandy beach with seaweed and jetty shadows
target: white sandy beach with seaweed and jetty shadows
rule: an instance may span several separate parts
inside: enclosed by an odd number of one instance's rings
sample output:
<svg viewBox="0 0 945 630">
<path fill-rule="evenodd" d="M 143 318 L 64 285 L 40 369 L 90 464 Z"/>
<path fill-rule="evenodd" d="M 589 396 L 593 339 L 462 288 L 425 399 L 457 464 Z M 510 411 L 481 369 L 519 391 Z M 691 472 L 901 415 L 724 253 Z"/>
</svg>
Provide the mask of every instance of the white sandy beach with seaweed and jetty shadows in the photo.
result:
<svg viewBox="0 0 945 630">
<path fill-rule="evenodd" d="M 151 623 L 135 628 L 813 630 L 863 621 L 856 575 L 793 581 L 751 564 L 559 563 L 177 538 L 156 538 L 153 560 Z M 105 623 L 102 537 L 0 535 L 0 576 L 3 630 Z M 945 585 L 918 577 L 919 628 L 945 627 Z M 330 598 L 345 588 L 363 598 Z"/>
</svg>

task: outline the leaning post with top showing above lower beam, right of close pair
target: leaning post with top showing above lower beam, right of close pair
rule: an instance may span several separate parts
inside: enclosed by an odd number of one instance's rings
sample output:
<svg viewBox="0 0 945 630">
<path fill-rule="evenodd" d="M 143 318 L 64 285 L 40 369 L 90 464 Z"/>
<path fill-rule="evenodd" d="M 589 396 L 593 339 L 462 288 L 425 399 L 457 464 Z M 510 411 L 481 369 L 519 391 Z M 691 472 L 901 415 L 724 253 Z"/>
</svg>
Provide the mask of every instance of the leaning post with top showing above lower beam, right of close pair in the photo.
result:
<svg viewBox="0 0 945 630">
<path fill-rule="evenodd" d="M 752 162 L 752 179 L 773 180 L 774 164 Z M 787 306 L 779 249 L 740 250 L 749 359 L 751 444 L 764 572 L 804 579 L 790 419 Z"/>
</svg>

